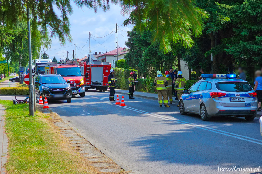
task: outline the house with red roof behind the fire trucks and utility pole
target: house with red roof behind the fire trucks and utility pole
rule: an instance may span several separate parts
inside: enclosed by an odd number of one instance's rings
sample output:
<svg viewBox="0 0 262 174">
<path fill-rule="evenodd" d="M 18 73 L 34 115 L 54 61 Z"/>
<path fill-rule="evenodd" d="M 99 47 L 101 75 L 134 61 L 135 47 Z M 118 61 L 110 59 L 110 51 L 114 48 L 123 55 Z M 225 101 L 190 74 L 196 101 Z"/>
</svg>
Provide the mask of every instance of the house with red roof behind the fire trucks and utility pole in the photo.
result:
<svg viewBox="0 0 262 174">
<path fill-rule="evenodd" d="M 128 53 L 127 48 L 120 47 L 117 49 L 118 52 L 118 60 L 124 59 L 125 54 Z M 112 50 L 109 52 L 106 52 L 104 54 L 100 54 L 99 56 L 96 57 L 98 61 L 102 62 L 109 62 L 111 63 L 111 68 L 115 67 L 115 60 L 116 60 L 116 50 Z"/>
</svg>

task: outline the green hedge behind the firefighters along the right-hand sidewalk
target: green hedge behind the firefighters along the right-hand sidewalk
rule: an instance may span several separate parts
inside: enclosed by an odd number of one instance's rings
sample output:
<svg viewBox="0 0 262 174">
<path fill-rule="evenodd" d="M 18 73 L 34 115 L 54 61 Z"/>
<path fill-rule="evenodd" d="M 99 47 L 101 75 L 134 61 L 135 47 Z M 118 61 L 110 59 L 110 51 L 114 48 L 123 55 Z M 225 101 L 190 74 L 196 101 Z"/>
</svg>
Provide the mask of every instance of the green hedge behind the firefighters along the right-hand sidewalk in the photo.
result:
<svg viewBox="0 0 262 174">
<path fill-rule="evenodd" d="M 128 77 L 130 76 L 131 71 L 136 71 L 133 69 L 124 69 L 124 68 L 114 68 L 114 76 L 117 79 L 116 88 L 128 90 L 129 82 Z M 136 91 L 155 93 L 153 83 L 154 79 L 137 79 L 138 83 L 136 86 Z M 197 80 L 186 80 L 185 89 L 189 89 Z"/>
</svg>

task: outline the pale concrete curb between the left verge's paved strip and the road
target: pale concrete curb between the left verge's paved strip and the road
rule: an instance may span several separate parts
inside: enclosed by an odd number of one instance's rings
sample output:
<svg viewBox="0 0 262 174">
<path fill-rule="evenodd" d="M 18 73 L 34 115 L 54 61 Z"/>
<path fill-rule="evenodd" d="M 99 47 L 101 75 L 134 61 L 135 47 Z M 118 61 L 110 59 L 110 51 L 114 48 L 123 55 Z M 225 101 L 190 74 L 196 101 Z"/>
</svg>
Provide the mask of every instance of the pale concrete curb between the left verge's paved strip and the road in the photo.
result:
<svg viewBox="0 0 262 174">
<path fill-rule="evenodd" d="M 52 112 L 53 110 L 51 108 L 49 108 Z M 63 122 L 65 122 L 69 127 L 73 128 L 74 131 L 76 131 L 77 133 L 79 133 L 81 136 L 83 136 L 84 139 L 86 139 L 90 144 L 92 144 L 92 146 L 94 146 L 95 148 L 97 148 L 100 152 L 102 152 L 105 156 L 107 156 L 108 158 L 112 159 L 118 166 L 120 166 L 121 169 L 123 169 L 124 171 L 131 171 L 127 166 L 125 166 L 123 163 L 121 163 L 120 161 L 118 161 L 117 159 L 115 159 L 113 156 L 111 156 L 109 153 L 107 153 L 104 149 L 102 149 L 100 146 L 97 146 L 94 142 L 90 141 L 88 139 L 88 137 L 86 135 L 84 135 L 83 133 L 81 133 L 79 130 L 77 130 L 75 127 L 73 127 L 70 123 L 68 123 L 66 120 L 64 120 L 58 113 L 53 112 L 56 115 L 58 115 Z"/>
</svg>

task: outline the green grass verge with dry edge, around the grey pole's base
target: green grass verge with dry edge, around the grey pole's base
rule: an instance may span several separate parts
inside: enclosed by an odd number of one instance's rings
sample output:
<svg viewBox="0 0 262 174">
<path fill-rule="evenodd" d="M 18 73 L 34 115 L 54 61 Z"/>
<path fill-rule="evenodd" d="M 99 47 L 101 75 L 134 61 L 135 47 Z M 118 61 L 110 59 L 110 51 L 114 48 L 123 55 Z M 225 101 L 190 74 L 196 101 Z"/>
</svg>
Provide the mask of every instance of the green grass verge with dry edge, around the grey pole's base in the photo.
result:
<svg viewBox="0 0 262 174">
<path fill-rule="evenodd" d="M 9 139 L 8 173 L 82 174 L 96 173 L 89 162 L 72 152 L 66 140 L 52 126 L 49 116 L 36 112 L 29 116 L 29 105 L 13 105 L 0 100 L 6 109 L 5 132 Z"/>
</svg>

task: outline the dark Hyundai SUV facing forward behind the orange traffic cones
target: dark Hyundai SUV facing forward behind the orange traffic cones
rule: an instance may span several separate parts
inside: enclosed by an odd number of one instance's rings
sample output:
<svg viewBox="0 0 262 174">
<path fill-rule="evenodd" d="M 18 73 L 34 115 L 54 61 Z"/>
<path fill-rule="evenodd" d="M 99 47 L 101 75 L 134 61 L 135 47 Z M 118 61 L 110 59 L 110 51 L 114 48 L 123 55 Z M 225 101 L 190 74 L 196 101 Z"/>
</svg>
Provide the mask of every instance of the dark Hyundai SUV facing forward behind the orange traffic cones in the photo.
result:
<svg viewBox="0 0 262 174">
<path fill-rule="evenodd" d="M 67 81 L 60 74 L 43 74 L 36 77 L 36 97 L 42 96 L 43 100 L 72 100 L 70 81 Z"/>
</svg>

